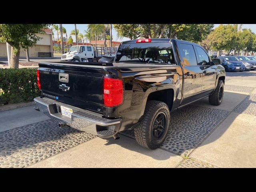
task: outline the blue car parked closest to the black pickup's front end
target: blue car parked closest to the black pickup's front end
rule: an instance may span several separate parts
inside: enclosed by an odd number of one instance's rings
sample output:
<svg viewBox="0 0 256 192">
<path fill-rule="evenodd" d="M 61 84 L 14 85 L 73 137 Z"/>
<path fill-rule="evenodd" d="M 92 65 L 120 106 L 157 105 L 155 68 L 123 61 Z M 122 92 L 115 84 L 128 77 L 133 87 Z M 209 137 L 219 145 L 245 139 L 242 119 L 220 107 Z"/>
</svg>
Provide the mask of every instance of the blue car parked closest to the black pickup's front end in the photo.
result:
<svg viewBox="0 0 256 192">
<path fill-rule="evenodd" d="M 243 71 L 245 70 L 245 65 L 236 56 L 218 56 L 222 60 L 222 66 L 224 66 L 225 71 Z"/>
</svg>

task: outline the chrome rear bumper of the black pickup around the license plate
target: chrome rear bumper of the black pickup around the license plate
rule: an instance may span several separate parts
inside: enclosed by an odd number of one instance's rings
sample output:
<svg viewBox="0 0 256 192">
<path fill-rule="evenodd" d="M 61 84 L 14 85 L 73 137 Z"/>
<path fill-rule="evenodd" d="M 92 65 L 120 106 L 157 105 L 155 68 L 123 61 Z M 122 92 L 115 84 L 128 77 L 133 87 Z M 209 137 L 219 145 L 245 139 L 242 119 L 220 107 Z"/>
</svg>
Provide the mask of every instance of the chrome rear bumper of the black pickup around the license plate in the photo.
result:
<svg viewBox="0 0 256 192">
<path fill-rule="evenodd" d="M 101 114 L 80 109 L 45 97 L 34 98 L 36 110 L 46 114 L 50 118 L 57 118 L 64 121 L 68 126 L 77 130 L 96 134 L 102 138 L 114 136 L 120 129 L 122 119 L 107 119 Z M 61 114 L 60 106 L 73 110 L 71 118 Z"/>
</svg>

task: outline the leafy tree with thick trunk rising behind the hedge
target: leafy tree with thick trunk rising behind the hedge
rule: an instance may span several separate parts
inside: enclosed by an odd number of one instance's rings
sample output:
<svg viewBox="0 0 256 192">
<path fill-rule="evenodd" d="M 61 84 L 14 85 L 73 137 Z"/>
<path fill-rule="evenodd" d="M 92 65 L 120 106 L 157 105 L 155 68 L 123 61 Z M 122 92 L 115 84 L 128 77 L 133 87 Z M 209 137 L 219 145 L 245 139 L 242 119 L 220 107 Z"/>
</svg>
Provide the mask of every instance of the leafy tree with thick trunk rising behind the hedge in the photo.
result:
<svg viewBox="0 0 256 192">
<path fill-rule="evenodd" d="M 11 68 L 19 67 L 20 48 L 25 50 L 42 39 L 36 34 L 45 33 L 50 24 L 0 24 L 0 37 L 11 46 Z"/>
</svg>

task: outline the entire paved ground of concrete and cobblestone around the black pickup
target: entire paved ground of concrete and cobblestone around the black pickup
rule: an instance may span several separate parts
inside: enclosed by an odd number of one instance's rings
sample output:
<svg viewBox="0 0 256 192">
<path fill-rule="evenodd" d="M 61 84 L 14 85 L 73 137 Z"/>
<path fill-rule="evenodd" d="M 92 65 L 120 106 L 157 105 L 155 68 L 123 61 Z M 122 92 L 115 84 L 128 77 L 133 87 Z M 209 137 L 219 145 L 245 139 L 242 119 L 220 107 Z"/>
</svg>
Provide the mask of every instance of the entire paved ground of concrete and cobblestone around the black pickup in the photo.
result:
<svg viewBox="0 0 256 192">
<path fill-rule="evenodd" d="M 0 168 L 256 167 L 256 71 L 228 72 L 224 100 L 204 98 L 171 114 L 166 141 L 148 150 L 126 131 L 119 140 L 58 128 L 33 106 L 0 112 Z"/>
</svg>

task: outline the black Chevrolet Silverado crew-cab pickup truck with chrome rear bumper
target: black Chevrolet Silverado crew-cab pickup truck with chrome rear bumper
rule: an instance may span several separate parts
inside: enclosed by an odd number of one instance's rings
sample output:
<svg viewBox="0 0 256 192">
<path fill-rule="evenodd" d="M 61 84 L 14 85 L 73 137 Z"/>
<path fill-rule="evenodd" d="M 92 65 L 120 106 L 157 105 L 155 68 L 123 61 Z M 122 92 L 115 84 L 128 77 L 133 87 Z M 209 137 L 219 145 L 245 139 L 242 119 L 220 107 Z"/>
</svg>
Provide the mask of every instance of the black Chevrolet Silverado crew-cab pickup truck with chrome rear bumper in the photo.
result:
<svg viewBox="0 0 256 192">
<path fill-rule="evenodd" d="M 59 127 L 118 137 L 134 129 L 138 144 L 158 148 L 170 112 L 204 97 L 219 105 L 225 70 L 198 44 L 177 39 L 122 42 L 114 62 L 40 62 L 36 110 Z"/>
</svg>

